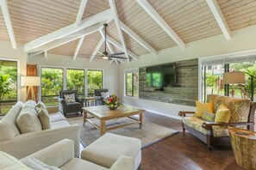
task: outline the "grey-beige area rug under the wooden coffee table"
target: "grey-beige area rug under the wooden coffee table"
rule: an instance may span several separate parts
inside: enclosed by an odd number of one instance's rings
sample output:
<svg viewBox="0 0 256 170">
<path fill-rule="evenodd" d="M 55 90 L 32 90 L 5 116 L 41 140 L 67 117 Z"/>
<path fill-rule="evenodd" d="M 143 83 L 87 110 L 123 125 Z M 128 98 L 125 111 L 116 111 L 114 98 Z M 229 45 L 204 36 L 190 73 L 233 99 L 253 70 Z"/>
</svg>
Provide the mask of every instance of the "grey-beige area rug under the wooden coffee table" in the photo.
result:
<svg viewBox="0 0 256 170">
<path fill-rule="evenodd" d="M 93 122 L 99 124 L 99 121 L 96 118 L 91 118 Z M 97 130 L 94 126 L 89 124 L 88 122 L 83 124 L 83 118 L 68 118 L 70 124 L 79 124 L 81 129 L 80 140 L 84 147 L 90 145 L 97 138 L 100 137 L 100 131 Z M 120 124 L 126 124 L 128 122 L 133 122 L 130 118 L 118 118 L 116 120 L 106 121 L 107 127 L 113 127 Z M 157 143 L 166 137 L 171 137 L 178 133 L 178 131 L 172 130 L 170 128 L 166 128 L 159 124 L 153 124 L 148 121 L 144 121 L 142 127 L 140 124 L 132 124 L 127 127 L 122 127 L 113 131 L 108 131 L 108 133 L 114 133 L 117 135 L 122 135 L 126 137 L 135 137 L 141 140 L 142 149 L 153 144 Z"/>
</svg>

